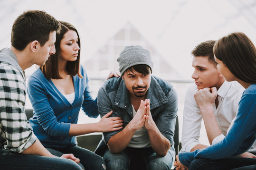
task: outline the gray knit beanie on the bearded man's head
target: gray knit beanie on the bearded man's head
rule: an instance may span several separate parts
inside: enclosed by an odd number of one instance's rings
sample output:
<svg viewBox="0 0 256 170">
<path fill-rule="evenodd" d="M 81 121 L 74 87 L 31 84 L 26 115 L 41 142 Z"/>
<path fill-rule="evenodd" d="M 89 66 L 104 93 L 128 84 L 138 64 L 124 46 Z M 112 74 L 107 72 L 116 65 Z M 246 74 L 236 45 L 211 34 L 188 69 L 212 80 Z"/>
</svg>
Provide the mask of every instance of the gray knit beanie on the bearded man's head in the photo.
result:
<svg viewBox="0 0 256 170">
<path fill-rule="evenodd" d="M 123 75 L 126 69 L 138 64 L 148 65 L 151 70 L 153 67 L 150 52 L 139 45 L 126 46 L 117 58 L 117 62 L 119 63 L 121 75 Z"/>
</svg>

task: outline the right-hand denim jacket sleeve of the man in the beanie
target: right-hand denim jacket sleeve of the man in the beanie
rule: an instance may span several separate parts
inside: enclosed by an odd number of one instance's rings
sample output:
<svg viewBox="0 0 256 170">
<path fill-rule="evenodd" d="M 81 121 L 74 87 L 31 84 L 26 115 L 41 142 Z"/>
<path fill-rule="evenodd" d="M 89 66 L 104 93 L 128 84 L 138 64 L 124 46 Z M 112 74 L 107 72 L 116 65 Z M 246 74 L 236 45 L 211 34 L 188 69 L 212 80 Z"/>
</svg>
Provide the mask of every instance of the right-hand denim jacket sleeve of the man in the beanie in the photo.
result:
<svg viewBox="0 0 256 170">
<path fill-rule="evenodd" d="M 173 136 L 178 112 L 178 96 L 174 88 L 168 93 L 167 99 L 168 102 L 162 105 L 162 111 L 159 113 L 159 117 L 155 120 L 155 123 L 161 134 L 165 136 L 170 141 L 171 146 L 173 146 Z"/>
</svg>

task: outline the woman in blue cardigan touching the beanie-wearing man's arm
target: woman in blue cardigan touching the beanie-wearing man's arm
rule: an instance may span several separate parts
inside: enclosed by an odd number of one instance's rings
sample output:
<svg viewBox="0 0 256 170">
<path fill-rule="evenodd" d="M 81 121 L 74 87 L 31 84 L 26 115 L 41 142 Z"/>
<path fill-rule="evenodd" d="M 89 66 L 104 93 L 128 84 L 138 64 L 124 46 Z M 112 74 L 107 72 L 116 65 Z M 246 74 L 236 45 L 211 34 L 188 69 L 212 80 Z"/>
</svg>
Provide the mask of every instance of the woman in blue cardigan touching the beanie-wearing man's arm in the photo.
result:
<svg viewBox="0 0 256 170">
<path fill-rule="evenodd" d="M 86 71 L 79 64 L 79 34 L 71 24 L 60 23 L 56 53 L 28 79 L 28 97 L 34 109 L 29 122 L 51 153 L 73 153 L 86 170 L 104 170 L 104 160 L 77 146 L 76 136 L 118 130 L 123 120 L 110 118 L 109 112 L 97 123 L 77 124 L 81 107 L 89 117 L 98 117 L 97 101 L 92 97 Z"/>
</svg>

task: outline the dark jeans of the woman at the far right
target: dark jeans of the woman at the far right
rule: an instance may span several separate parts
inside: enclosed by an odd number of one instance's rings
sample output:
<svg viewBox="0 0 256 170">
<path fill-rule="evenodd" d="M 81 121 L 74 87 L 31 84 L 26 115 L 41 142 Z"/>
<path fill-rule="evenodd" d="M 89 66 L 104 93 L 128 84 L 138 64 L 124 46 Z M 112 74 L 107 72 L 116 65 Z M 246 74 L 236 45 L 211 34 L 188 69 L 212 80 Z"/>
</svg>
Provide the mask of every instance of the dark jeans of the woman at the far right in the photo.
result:
<svg viewBox="0 0 256 170">
<path fill-rule="evenodd" d="M 246 168 L 246 166 L 255 164 L 256 159 L 254 158 L 227 157 L 218 160 L 195 159 L 190 163 L 189 170 L 232 170 L 235 168 Z"/>
</svg>

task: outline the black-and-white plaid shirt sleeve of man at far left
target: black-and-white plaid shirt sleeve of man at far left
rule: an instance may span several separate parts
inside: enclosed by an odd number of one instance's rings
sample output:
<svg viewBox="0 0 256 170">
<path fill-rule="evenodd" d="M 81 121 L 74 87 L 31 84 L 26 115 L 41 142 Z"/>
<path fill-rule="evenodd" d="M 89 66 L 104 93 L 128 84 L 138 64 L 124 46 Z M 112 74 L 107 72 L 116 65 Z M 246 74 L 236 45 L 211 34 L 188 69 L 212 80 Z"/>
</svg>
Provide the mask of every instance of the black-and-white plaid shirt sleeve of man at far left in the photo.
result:
<svg viewBox="0 0 256 170">
<path fill-rule="evenodd" d="M 0 142 L 6 149 L 21 153 L 37 137 L 28 125 L 24 111 L 26 86 L 19 70 L 0 62 Z"/>
</svg>

